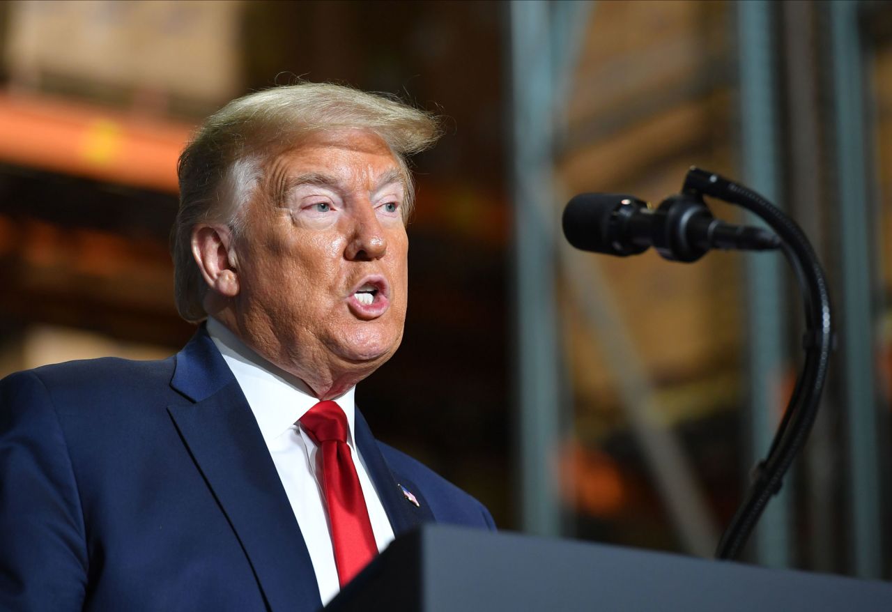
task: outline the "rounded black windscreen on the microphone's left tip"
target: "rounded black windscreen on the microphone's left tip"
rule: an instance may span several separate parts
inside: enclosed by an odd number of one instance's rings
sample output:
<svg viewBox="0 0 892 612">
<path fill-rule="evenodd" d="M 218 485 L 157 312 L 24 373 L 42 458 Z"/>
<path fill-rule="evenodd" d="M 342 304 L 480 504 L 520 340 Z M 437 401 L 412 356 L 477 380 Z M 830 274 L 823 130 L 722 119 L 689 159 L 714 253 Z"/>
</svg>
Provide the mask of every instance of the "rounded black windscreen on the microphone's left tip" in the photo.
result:
<svg viewBox="0 0 892 612">
<path fill-rule="evenodd" d="M 624 200 L 637 201 L 626 194 L 579 194 L 564 209 L 564 236 L 582 251 L 619 255 L 612 244 L 610 218 Z"/>
</svg>

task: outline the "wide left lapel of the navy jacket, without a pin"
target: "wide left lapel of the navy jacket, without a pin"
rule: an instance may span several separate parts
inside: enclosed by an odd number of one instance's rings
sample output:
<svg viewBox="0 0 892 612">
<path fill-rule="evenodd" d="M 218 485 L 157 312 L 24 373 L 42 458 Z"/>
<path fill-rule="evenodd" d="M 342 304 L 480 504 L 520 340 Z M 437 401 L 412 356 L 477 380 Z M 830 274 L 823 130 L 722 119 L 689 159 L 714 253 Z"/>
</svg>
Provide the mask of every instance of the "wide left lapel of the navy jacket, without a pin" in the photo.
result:
<svg viewBox="0 0 892 612">
<path fill-rule="evenodd" d="M 271 610 L 321 608 L 310 553 L 244 394 L 206 333 L 177 356 L 168 407 L 242 544 Z"/>
</svg>

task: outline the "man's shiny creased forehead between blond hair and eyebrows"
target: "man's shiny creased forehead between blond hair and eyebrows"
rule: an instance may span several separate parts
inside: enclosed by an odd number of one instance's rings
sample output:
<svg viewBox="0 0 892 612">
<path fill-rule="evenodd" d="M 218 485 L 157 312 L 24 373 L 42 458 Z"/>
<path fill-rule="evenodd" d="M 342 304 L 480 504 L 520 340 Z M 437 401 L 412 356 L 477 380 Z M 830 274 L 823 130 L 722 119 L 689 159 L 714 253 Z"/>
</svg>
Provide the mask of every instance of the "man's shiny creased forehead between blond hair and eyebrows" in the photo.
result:
<svg viewBox="0 0 892 612">
<path fill-rule="evenodd" d="M 269 178 L 280 186 L 306 175 L 328 176 L 344 184 L 372 184 L 393 176 L 394 170 L 402 177 L 400 161 L 381 136 L 368 130 L 341 129 L 302 136 L 272 161 Z"/>
</svg>

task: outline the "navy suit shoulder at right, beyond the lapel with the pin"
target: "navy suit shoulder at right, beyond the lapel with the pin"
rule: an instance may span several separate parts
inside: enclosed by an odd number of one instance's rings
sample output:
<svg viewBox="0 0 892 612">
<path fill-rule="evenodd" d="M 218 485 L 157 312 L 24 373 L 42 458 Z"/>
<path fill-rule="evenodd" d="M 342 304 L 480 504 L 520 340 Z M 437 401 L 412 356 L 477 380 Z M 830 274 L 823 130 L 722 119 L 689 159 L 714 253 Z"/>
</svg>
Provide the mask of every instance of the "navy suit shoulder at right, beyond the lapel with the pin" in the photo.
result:
<svg viewBox="0 0 892 612">
<path fill-rule="evenodd" d="M 475 497 L 389 444 L 378 442 L 378 447 L 393 472 L 419 487 L 438 522 L 495 528 L 490 511 Z"/>
</svg>

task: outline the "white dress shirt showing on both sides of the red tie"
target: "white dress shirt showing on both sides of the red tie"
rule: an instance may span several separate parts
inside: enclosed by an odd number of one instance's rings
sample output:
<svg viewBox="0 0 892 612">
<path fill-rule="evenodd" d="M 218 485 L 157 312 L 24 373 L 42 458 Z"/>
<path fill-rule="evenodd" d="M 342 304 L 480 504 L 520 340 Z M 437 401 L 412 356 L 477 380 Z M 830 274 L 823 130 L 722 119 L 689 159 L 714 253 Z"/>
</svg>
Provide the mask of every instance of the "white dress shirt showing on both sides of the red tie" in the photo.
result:
<svg viewBox="0 0 892 612">
<path fill-rule="evenodd" d="M 294 517 L 301 527 L 303 541 L 310 551 L 319 597 L 322 598 L 322 604 L 326 605 L 340 591 L 340 584 L 325 500 L 319 482 L 321 475 L 317 475 L 315 469 L 318 447 L 298 422 L 318 399 L 299 378 L 264 360 L 218 320 L 208 318 L 207 327 L 211 340 L 217 345 L 235 375 L 235 380 L 242 387 L 244 397 L 260 426 L 260 434 L 276 464 Z M 375 542 L 380 551 L 393 541 L 393 530 L 375 485 L 368 477 L 365 462 L 353 442 L 355 390 L 356 387 L 352 387 L 335 401 L 347 416 L 350 428 L 347 444 L 350 445 L 362 494 L 366 498 L 372 532 L 375 533 Z"/>
</svg>

